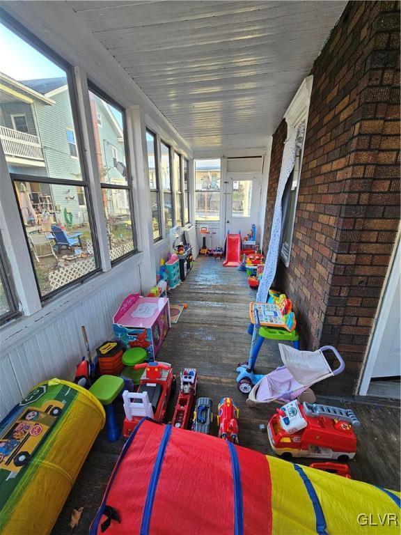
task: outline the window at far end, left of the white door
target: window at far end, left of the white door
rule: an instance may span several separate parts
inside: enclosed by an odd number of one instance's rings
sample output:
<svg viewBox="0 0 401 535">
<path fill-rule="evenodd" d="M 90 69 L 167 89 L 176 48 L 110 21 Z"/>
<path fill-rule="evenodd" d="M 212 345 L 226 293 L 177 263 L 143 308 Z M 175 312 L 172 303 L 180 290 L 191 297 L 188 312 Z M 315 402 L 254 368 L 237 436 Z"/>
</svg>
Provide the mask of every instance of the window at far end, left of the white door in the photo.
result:
<svg viewBox="0 0 401 535">
<path fill-rule="evenodd" d="M 220 160 L 195 160 L 197 221 L 220 219 Z"/>
</svg>

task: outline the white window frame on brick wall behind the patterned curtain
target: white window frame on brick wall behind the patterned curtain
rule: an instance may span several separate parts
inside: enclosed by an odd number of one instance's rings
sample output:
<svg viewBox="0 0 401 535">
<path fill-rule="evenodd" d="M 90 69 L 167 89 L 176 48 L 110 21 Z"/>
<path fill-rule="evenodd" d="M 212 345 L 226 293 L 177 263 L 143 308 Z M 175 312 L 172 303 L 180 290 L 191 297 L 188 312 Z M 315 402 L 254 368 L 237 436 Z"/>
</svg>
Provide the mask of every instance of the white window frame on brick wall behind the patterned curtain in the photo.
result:
<svg viewBox="0 0 401 535">
<path fill-rule="evenodd" d="M 297 160 L 299 162 L 299 169 L 297 171 L 297 169 L 294 168 L 294 172 L 298 172 L 295 202 L 294 202 L 293 209 L 291 211 L 289 210 L 288 215 L 287 215 L 288 221 L 290 223 L 290 240 L 289 242 L 283 242 L 283 244 L 281 245 L 281 251 L 280 251 L 280 258 L 281 258 L 281 261 L 283 261 L 285 267 L 288 267 L 290 265 L 292 238 L 294 235 L 295 213 L 297 212 L 299 183 L 301 182 L 302 159 L 304 157 L 304 145 L 305 145 L 305 139 L 306 139 L 306 128 L 307 128 L 307 123 L 308 123 L 308 113 L 309 113 L 309 105 L 310 105 L 310 94 L 312 93 L 312 84 L 313 84 L 312 75 L 304 79 L 304 81 L 302 82 L 301 86 L 299 86 L 299 89 L 296 95 L 292 99 L 292 102 L 284 115 L 285 121 L 287 123 L 287 139 L 285 140 L 285 144 L 287 144 L 290 141 L 294 130 L 297 130 L 301 122 L 305 121 L 304 139 L 302 141 L 301 151 L 300 151 L 299 157 L 297 157 L 295 160 L 295 166 L 297 166 Z"/>
</svg>

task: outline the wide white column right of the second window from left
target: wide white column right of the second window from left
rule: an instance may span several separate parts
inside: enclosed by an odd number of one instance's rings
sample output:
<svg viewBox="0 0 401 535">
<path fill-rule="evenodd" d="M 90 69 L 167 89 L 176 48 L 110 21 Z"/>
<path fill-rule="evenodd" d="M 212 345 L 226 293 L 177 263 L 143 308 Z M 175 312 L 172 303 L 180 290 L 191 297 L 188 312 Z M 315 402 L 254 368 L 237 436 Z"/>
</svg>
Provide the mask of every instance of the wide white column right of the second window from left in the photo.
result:
<svg viewBox="0 0 401 535">
<path fill-rule="evenodd" d="M 146 119 L 145 114 L 138 106 L 133 106 L 127 111 L 129 160 L 131 169 L 135 169 L 135 179 L 132 182 L 135 228 L 138 247 L 144 253 L 139 269 L 141 272 L 142 292 L 143 295 L 146 295 L 150 288 L 156 284 L 155 243 L 153 242 L 152 209 L 150 206 L 148 180 Z"/>
</svg>

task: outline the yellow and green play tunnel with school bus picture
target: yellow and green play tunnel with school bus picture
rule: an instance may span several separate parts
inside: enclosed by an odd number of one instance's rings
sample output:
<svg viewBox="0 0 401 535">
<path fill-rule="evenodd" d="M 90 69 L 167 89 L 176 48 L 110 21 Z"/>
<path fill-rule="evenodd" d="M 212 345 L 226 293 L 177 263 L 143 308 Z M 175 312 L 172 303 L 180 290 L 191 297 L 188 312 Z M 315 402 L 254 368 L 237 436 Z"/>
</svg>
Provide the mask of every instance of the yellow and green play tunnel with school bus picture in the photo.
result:
<svg viewBox="0 0 401 535">
<path fill-rule="evenodd" d="M 0 422 L 1 535 L 52 531 L 104 420 L 88 390 L 52 379 Z"/>
</svg>

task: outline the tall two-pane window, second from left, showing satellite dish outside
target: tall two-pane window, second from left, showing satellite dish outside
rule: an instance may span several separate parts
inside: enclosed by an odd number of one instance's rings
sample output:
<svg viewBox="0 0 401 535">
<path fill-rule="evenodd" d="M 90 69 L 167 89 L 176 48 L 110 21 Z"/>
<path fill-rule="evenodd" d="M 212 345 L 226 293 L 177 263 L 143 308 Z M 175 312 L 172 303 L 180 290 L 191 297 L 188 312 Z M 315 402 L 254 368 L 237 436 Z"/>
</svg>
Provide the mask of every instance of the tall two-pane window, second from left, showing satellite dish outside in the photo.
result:
<svg viewBox="0 0 401 535">
<path fill-rule="evenodd" d="M 106 216 L 107 241 L 113 262 L 135 250 L 132 185 L 125 155 L 125 116 L 118 104 L 111 102 L 104 95 L 100 96 L 95 88 L 91 87 L 89 100 Z"/>
</svg>

